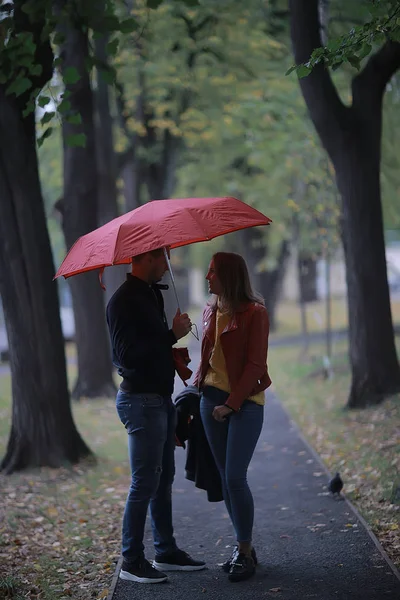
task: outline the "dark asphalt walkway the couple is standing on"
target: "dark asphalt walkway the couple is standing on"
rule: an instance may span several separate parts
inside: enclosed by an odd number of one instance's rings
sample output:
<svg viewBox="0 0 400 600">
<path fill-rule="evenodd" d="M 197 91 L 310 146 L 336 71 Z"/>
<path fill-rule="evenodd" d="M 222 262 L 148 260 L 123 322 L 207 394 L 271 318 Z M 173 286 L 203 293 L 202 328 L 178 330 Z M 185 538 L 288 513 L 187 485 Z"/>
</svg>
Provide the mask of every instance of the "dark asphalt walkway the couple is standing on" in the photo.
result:
<svg viewBox="0 0 400 600">
<path fill-rule="evenodd" d="M 191 356 L 196 364 L 198 350 L 193 345 Z M 119 563 L 110 600 L 400 599 L 399 574 L 351 505 L 327 493 L 328 473 L 273 392 L 267 395 L 265 416 L 249 472 L 256 507 L 254 545 L 260 561 L 256 576 L 232 584 L 218 567 L 234 543 L 228 515 L 222 503 L 209 503 L 205 492 L 185 479 L 185 451 L 177 448 L 176 538 L 194 557 L 204 558 L 208 568 L 172 573 L 165 584 L 141 585 L 118 579 Z M 149 524 L 145 540 L 151 559 Z"/>
</svg>

